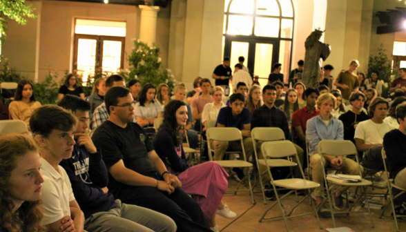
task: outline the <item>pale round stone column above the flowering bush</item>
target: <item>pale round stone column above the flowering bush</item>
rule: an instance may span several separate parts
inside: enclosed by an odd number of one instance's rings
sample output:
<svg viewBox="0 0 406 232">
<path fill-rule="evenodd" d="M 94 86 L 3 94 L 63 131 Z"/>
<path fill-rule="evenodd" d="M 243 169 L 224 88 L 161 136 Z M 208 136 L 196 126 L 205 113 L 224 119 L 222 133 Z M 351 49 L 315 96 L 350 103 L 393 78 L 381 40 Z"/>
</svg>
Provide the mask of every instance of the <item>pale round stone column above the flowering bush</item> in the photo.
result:
<svg viewBox="0 0 406 232">
<path fill-rule="evenodd" d="M 151 46 L 155 43 L 157 34 L 157 12 L 160 11 L 160 7 L 140 5 L 139 10 L 141 10 L 139 40 Z"/>
</svg>

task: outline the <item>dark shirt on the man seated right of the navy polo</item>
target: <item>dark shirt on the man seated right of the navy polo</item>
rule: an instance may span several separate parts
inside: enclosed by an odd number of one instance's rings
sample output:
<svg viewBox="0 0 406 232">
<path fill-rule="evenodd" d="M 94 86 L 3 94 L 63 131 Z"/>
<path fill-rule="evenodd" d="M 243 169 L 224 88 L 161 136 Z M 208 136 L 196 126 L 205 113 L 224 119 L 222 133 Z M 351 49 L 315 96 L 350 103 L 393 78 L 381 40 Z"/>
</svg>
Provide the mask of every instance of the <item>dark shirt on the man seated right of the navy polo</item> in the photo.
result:
<svg viewBox="0 0 406 232">
<path fill-rule="evenodd" d="M 289 139 L 289 126 L 287 123 L 286 114 L 273 105 L 268 108 L 265 104 L 256 110 L 253 110 L 251 115 L 251 130 L 255 127 L 278 127 L 281 128 L 284 137 Z"/>
</svg>

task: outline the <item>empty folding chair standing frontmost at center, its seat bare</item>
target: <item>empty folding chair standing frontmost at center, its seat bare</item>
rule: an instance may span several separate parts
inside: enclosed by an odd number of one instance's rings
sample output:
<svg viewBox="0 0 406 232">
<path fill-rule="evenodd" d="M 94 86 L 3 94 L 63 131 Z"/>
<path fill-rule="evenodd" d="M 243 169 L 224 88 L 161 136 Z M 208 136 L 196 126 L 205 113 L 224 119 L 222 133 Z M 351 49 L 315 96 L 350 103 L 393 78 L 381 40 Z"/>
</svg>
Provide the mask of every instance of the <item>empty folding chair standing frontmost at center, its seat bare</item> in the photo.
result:
<svg viewBox="0 0 406 232">
<path fill-rule="evenodd" d="M 271 184 L 273 186 L 273 191 L 275 191 L 277 202 L 275 202 L 269 209 L 267 209 L 267 211 L 265 211 L 264 215 L 262 215 L 262 218 L 260 219 L 260 222 L 262 222 L 262 220 L 283 218 L 284 225 L 286 226 L 286 229 L 289 232 L 289 227 L 287 224 L 288 218 L 296 218 L 296 217 L 300 217 L 303 215 L 314 214 L 314 215 L 316 215 L 318 224 L 320 225 L 320 229 L 322 229 L 322 224 L 320 223 L 320 219 L 318 218 L 317 209 L 316 209 L 316 206 L 315 206 L 313 200 L 311 200 L 311 205 L 313 206 L 313 212 L 303 213 L 300 215 L 291 215 L 293 213 L 293 211 L 296 209 L 296 207 L 299 206 L 299 204 L 304 202 L 307 199 L 307 197 L 310 197 L 310 195 L 311 195 L 310 190 L 320 186 L 320 184 L 318 184 L 316 182 L 311 182 L 309 180 L 306 180 L 305 173 L 303 173 L 300 162 L 298 162 L 298 164 L 296 164 L 295 162 L 291 162 L 289 160 L 282 159 L 284 157 L 295 156 L 296 160 L 299 160 L 298 153 L 296 153 L 296 148 L 295 148 L 295 146 L 293 146 L 292 142 L 290 142 L 290 141 L 264 142 L 261 146 L 261 149 L 262 149 L 262 154 L 264 154 L 265 164 L 267 165 L 268 175 L 271 178 Z M 273 159 L 267 160 L 268 158 L 273 158 Z M 276 167 L 282 167 L 282 166 L 292 167 L 292 166 L 296 166 L 296 165 L 298 165 L 300 168 L 300 173 L 302 173 L 302 178 L 273 180 L 273 176 L 272 176 L 270 168 L 276 168 Z M 276 186 L 278 186 L 280 188 L 284 188 L 284 189 L 291 189 L 291 191 L 289 191 L 289 193 L 283 195 L 282 197 L 279 197 L 278 192 L 276 191 Z M 282 206 L 282 203 L 280 201 L 282 199 L 284 199 L 284 197 L 287 197 L 287 196 L 291 195 L 291 193 L 293 193 L 297 190 L 300 190 L 300 189 L 307 189 L 309 194 L 307 194 L 305 197 L 303 197 L 302 200 L 300 200 L 300 202 L 296 203 L 292 207 L 291 211 L 289 213 L 287 213 L 287 211 L 285 211 L 285 209 Z M 276 204 L 279 205 L 282 216 L 265 218 L 268 211 L 270 211 L 273 208 L 273 206 L 276 206 Z"/>
</svg>

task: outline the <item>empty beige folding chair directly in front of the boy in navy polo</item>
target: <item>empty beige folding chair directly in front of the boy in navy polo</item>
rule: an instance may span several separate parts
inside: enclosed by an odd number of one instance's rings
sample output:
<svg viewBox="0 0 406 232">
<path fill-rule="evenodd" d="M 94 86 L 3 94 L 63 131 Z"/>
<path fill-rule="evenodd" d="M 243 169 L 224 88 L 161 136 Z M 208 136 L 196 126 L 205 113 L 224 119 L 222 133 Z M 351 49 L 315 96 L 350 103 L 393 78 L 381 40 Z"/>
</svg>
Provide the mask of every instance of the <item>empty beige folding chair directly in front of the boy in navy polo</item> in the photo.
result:
<svg viewBox="0 0 406 232">
<path fill-rule="evenodd" d="M 244 161 L 242 160 L 215 160 L 214 162 L 220 164 L 223 168 L 246 168 L 247 175 L 241 180 L 240 184 L 238 184 L 237 189 L 233 191 L 227 191 L 226 193 L 234 193 L 237 194 L 238 191 L 249 191 L 251 193 L 251 200 L 252 204 L 255 204 L 255 200 L 253 199 L 253 192 L 251 187 L 251 178 L 249 176 L 249 168 L 253 165 L 250 162 L 247 162 L 247 156 L 245 155 L 244 149 L 244 142 L 242 139 L 241 131 L 238 128 L 234 127 L 212 127 L 207 130 L 207 145 L 209 146 L 209 158 L 210 161 L 213 161 L 213 156 L 211 155 L 211 146 L 210 141 L 221 141 L 221 142 L 231 142 L 231 141 L 240 141 L 242 151 L 226 151 L 226 153 L 240 153 L 244 156 Z M 239 189 L 241 184 L 244 180 L 248 178 L 248 189 Z"/>
</svg>

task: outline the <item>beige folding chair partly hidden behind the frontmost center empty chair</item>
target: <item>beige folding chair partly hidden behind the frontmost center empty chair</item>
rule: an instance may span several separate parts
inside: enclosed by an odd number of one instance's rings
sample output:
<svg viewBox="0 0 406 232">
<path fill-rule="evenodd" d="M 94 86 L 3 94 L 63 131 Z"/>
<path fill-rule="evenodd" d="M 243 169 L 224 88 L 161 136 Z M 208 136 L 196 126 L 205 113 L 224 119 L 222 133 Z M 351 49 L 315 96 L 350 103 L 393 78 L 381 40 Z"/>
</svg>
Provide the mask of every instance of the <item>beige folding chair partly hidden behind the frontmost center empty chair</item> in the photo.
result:
<svg viewBox="0 0 406 232">
<path fill-rule="evenodd" d="M 257 162 L 257 167 L 258 167 L 258 175 L 260 175 L 262 196 L 264 197 L 264 204 L 267 204 L 267 198 L 265 197 L 264 185 L 262 184 L 262 174 L 263 173 L 260 173 L 260 165 L 263 165 L 263 166 L 267 166 L 267 165 L 265 164 L 264 159 L 258 160 L 257 140 L 258 140 L 258 142 L 259 141 L 270 142 L 270 141 L 284 140 L 284 133 L 278 127 L 256 127 L 256 128 L 253 128 L 253 130 L 251 131 L 251 138 L 252 138 L 252 142 L 253 142 L 255 160 Z M 256 184 L 256 182 L 255 182 L 255 184 Z M 253 186 L 255 186 L 255 184 Z"/>
</svg>

